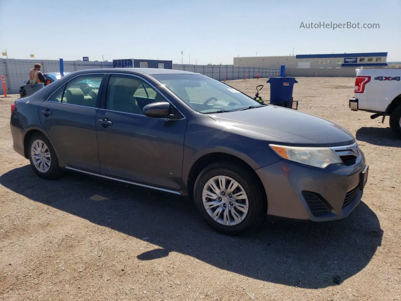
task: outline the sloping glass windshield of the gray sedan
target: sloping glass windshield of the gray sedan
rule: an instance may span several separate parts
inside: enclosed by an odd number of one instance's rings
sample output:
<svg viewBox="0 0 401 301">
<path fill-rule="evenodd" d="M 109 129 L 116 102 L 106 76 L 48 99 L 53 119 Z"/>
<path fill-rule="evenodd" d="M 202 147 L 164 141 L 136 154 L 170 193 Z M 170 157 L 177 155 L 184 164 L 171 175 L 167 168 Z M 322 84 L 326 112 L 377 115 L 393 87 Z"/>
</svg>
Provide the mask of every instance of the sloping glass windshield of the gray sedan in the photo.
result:
<svg viewBox="0 0 401 301">
<path fill-rule="evenodd" d="M 238 90 L 205 75 L 154 74 L 178 98 L 201 113 L 230 112 L 262 106 Z"/>
</svg>

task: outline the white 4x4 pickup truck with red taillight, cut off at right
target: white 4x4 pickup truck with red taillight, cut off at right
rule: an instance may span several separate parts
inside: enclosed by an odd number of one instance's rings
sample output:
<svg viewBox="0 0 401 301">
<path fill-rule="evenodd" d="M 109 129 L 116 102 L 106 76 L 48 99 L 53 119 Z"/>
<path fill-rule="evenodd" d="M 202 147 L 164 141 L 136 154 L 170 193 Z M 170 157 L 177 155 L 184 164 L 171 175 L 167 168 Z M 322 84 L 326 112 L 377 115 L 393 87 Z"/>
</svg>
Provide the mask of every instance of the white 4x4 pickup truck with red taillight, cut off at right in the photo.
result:
<svg viewBox="0 0 401 301">
<path fill-rule="evenodd" d="M 374 113 L 371 118 L 390 116 L 390 128 L 401 139 L 401 69 L 356 69 L 354 111 Z"/>
</svg>

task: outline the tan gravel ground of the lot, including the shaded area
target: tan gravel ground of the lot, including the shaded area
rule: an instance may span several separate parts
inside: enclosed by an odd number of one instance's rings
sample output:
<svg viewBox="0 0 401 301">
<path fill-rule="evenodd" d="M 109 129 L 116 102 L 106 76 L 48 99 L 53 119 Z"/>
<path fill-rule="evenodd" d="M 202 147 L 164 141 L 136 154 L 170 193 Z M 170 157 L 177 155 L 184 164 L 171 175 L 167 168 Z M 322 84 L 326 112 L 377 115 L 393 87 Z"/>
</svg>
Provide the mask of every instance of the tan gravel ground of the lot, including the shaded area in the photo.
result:
<svg viewBox="0 0 401 301">
<path fill-rule="evenodd" d="M 0 298 L 6 300 L 400 300 L 401 141 L 351 112 L 352 78 L 297 78 L 299 110 L 347 127 L 370 165 L 344 220 L 216 233 L 191 201 L 67 173 L 38 178 L 14 152 L 0 98 Z M 266 79 L 228 82 L 253 96 Z M 338 283 L 338 284 L 337 284 Z"/>
</svg>

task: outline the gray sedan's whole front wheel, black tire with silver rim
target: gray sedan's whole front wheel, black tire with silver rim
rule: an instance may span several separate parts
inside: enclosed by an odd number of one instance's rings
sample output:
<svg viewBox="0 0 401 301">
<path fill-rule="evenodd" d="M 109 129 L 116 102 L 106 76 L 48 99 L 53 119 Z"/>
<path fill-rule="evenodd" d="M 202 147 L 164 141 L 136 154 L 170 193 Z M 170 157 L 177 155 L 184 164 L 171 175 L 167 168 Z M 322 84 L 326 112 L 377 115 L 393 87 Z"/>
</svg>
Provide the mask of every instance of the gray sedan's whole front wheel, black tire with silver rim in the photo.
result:
<svg viewBox="0 0 401 301">
<path fill-rule="evenodd" d="M 196 179 L 196 208 L 218 232 L 229 235 L 249 232 L 267 213 L 258 182 L 256 175 L 235 162 L 212 163 Z"/>
</svg>

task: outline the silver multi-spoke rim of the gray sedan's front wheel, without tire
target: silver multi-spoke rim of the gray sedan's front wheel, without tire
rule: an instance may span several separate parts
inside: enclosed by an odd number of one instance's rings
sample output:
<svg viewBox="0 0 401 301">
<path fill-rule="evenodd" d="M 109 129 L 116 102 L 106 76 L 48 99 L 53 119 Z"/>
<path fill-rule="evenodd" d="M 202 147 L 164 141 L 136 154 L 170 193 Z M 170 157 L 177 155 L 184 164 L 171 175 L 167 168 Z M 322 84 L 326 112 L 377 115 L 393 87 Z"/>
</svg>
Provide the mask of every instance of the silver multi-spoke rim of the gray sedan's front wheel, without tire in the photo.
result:
<svg viewBox="0 0 401 301">
<path fill-rule="evenodd" d="M 248 213 L 245 189 L 228 176 L 219 175 L 209 179 L 203 187 L 202 200 L 209 216 L 222 225 L 237 225 Z"/>
</svg>

